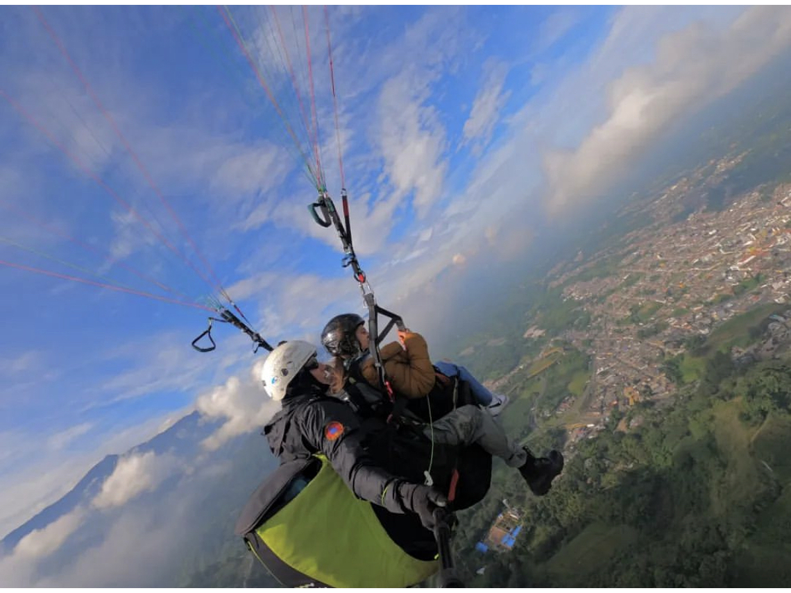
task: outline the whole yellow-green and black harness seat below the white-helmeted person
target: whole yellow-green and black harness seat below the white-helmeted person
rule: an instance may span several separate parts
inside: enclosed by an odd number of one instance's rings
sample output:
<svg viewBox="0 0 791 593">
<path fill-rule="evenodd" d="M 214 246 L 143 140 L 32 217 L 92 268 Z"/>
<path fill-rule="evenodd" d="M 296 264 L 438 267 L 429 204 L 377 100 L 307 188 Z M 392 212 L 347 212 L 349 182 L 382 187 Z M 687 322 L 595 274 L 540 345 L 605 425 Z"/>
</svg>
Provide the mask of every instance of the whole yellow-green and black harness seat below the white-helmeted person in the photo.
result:
<svg viewBox="0 0 791 593">
<path fill-rule="evenodd" d="M 248 500 L 236 533 L 286 587 L 410 587 L 441 568 L 396 545 L 324 455 L 279 466 Z"/>
</svg>

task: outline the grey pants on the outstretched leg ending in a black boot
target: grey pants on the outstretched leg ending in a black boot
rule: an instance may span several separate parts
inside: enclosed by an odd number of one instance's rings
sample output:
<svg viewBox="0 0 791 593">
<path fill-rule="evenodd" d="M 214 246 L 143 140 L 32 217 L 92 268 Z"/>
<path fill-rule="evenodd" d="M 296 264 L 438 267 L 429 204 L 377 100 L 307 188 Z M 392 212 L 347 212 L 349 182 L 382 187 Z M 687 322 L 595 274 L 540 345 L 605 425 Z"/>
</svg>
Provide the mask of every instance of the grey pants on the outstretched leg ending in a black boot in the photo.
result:
<svg viewBox="0 0 791 593">
<path fill-rule="evenodd" d="M 511 467 L 520 467 L 528 454 L 508 438 L 505 430 L 478 406 L 461 406 L 426 426 L 426 436 L 435 443 L 450 445 L 479 444 L 487 453 L 499 457 Z"/>
</svg>

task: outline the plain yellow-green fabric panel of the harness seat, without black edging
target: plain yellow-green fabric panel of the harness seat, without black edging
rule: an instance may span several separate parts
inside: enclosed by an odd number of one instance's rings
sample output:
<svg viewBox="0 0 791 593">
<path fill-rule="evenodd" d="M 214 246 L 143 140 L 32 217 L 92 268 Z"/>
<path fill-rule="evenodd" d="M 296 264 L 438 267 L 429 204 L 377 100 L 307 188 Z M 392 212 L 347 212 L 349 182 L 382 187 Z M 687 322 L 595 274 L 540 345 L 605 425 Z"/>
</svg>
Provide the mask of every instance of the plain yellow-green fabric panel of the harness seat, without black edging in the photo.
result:
<svg viewBox="0 0 791 593">
<path fill-rule="evenodd" d="M 331 587 L 408 587 L 439 571 L 388 537 L 322 455 L 302 492 L 256 531 L 287 565 Z"/>
</svg>

